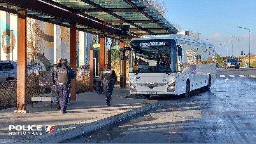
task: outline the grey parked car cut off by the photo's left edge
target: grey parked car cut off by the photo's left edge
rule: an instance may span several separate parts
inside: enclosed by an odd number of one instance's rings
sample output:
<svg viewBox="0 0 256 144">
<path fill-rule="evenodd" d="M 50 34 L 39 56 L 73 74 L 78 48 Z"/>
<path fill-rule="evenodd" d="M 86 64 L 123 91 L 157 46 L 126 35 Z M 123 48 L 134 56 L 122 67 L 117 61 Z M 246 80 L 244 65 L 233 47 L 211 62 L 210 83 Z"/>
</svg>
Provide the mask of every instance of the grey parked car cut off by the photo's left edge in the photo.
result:
<svg viewBox="0 0 256 144">
<path fill-rule="evenodd" d="M 0 82 L 17 79 L 17 63 L 15 61 L 0 61 Z"/>
</svg>

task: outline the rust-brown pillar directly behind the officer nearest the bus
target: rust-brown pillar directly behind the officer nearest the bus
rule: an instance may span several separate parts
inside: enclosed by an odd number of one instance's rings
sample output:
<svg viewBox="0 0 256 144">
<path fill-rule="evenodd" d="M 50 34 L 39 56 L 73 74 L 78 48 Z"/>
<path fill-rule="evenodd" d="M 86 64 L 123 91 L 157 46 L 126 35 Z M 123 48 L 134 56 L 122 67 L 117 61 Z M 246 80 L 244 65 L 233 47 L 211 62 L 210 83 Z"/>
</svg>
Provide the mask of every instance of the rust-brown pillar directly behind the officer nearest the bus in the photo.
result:
<svg viewBox="0 0 256 144">
<path fill-rule="evenodd" d="M 105 67 L 105 33 L 100 33 L 100 73 Z"/>
</svg>

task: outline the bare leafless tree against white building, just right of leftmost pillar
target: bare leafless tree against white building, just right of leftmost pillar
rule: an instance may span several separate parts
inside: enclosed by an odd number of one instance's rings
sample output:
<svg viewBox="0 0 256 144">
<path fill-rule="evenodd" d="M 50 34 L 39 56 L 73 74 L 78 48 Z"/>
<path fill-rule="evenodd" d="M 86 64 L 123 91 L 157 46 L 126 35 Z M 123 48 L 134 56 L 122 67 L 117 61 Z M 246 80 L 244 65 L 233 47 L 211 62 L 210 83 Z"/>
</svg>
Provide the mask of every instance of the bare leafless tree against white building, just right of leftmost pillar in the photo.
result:
<svg viewBox="0 0 256 144">
<path fill-rule="evenodd" d="M 41 50 L 42 41 L 46 35 L 40 29 L 35 19 L 27 18 L 27 47 L 30 54 L 31 64 L 35 64 L 38 53 Z"/>
</svg>

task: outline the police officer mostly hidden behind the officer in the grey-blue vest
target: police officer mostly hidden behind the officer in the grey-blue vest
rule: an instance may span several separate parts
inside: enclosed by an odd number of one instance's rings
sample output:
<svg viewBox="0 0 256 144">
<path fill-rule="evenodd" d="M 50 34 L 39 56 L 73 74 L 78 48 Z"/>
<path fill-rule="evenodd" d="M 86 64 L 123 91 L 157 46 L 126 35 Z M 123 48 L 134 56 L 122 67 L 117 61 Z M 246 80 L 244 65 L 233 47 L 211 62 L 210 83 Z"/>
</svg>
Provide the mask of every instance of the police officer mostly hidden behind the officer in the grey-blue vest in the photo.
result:
<svg viewBox="0 0 256 144">
<path fill-rule="evenodd" d="M 55 87 L 55 90 L 56 90 L 56 98 L 57 98 L 57 106 L 58 106 L 58 109 L 60 109 L 60 94 L 59 94 L 59 88 L 58 88 L 58 85 L 57 85 L 57 79 L 54 79 L 54 73 L 56 71 L 57 68 L 61 67 L 61 57 L 58 58 L 57 60 L 57 64 L 51 69 L 51 80 L 52 80 L 52 83 L 53 83 L 53 87 Z"/>
</svg>

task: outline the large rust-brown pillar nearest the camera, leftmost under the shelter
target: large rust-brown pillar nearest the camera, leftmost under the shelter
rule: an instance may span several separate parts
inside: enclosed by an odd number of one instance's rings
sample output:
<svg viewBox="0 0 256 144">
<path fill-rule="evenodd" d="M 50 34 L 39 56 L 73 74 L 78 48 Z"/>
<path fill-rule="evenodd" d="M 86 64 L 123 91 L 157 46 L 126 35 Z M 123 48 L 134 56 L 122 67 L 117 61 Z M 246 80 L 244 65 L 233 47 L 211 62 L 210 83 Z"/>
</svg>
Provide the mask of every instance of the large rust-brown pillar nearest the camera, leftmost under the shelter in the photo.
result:
<svg viewBox="0 0 256 144">
<path fill-rule="evenodd" d="M 17 59 L 17 110 L 14 113 L 29 113 L 26 107 L 27 92 L 27 10 L 18 9 L 18 59 Z"/>
</svg>

